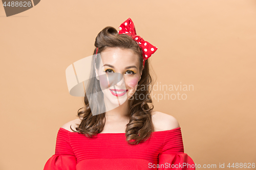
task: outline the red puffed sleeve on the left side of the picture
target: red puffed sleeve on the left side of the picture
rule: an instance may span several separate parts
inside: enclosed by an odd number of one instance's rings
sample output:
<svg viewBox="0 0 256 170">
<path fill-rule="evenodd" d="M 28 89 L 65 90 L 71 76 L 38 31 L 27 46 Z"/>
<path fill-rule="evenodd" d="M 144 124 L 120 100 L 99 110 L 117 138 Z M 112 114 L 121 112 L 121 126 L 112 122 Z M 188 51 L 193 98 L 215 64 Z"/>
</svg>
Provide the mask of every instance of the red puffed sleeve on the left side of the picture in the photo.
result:
<svg viewBox="0 0 256 170">
<path fill-rule="evenodd" d="M 71 132 L 72 133 L 72 132 Z M 76 157 L 70 145 L 69 132 L 59 129 L 56 138 L 55 154 L 45 164 L 44 170 L 75 170 Z"/>
</svg>

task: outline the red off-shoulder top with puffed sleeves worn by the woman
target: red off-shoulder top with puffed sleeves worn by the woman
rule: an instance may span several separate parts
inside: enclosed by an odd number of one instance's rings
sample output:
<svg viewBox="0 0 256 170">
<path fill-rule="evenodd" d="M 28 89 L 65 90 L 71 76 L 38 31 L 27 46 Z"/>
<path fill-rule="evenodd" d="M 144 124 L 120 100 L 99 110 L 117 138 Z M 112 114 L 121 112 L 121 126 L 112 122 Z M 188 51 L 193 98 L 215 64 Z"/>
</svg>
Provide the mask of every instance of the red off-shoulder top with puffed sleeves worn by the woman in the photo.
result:
<svg viewBox="0 0 256 170">
<path fill-rule="evenodd" d="M 60 128 L 55 154 L 44 170 L 196 169 L 194 161 L 184 153 L 180 127 L 153 132 L 137 145 L 125 139 L 125 133 L 99 133 L 88 138 Z"/>
</svg>

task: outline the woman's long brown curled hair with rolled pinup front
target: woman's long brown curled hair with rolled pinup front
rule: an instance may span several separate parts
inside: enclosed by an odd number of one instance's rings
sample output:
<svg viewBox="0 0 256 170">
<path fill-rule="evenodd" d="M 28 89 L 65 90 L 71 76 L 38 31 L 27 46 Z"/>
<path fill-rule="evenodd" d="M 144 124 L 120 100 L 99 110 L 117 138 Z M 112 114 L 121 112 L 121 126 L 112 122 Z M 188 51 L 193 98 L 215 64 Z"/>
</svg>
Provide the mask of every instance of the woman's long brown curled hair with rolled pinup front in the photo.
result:
<svg viewBox="0 0 256 170">
<path fill-rule="evenodd" d="M 130 115 L 130 122 L 126 125 L 125 136 L 126 141 L 130 144 L 139 144 L 142 140 L 147 140 L 151 133 L 154 132 L 154 126 L 152 122 L 152 115 L 151 112 L 154 108 L 152 104 L 152 99 L 150 93 L 152 91 L 152 86 L 154 84 L 152 76 L 150 75 L 149 69 L 149 61 L 146 60 L 143 68 L 143 57 L 142 51 L 139 45 L 126 34 L 118 34 L 117 30 L 113 27 L 106 27 L 104 28 L 95 39 L 95 50 L 94 56 L 96 54 L 96 49 L 98 47 L 98 52 L 103 52 L 106 48 L 109 47 L 120 47 L 124 49 L 131 49 L 134 51 L 135 54 L 139 57 L 139 71 L 141 75 L 141 79 L 138 82 L 138 87 L 134 95 L 129 99 L 129 105 L 131 109 Z M 100 57 L 95 57 L 92 60 L 92 65 L 96 63 L 96 67 L 99 67 L 99 59 Z M 92 67 L 94 68 L 94 67 Z M 91 71 L 92 78 L 96 77 L 95 69 Z M 91 91 L 100 91 L 100 84 L 99 81 L 95 78 L 92 79 L 91 82 L 88 84 Z M 150 87 L 150 88 L 148 88 Z M 136 94 L 137 93 L 137 94 Z M 135 96 L 143 95 L 143 99 L 140 99 Z M 101 99 L 103 97 L 103 92 L 99 94 Z M 91 95 L 93 99 L 94 107 L 97 108 L 97 96 Z M 150 107 L 151 105 L 151 107 Z M 79 111 L 83 109 L 82 111 Z M 92 135 L 96 135 L 97 133 L 102 132 L 103 127 L 105 125 L 105 121 L 103 123 L 103 119 L 105 118 L 105 112 L 97 115 L 92 115 L 92 110 L 89 106 L 89 100 L 87 95 L 84 96 L 84 107 L 78 109 L 78 117 L 81 120 L 79 127 L 76 128 L 77 131 L 81 134 L 84 134 L 87 137 L 92 137 Z M 71 128 L 71 127 L 70 127 Z M 72 128 L 71 128 L 72 129 Z M 72 129 L 73 130 L 73 129 Z M 74 131 L 74 130 L 73 130 Z M 134 140 L 131 142 L 130 140 Z"/>
</svg>

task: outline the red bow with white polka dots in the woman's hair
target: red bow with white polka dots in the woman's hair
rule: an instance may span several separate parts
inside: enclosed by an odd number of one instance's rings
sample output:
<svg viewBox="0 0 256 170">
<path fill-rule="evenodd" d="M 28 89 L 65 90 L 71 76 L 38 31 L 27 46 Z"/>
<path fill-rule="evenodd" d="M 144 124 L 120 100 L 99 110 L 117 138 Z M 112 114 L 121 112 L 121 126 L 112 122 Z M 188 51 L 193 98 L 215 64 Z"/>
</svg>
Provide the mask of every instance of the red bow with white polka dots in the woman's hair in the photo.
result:
<svg viewBox="0 0 256 170">
<path fill-rule="evenodd" d="M 136 35 L 136 30 L 134 23 L 131 18 L 128 18 L 125 20 L 120 26 L 119 26 L 118 34 L 127 34 L 133 38 L 134 41 L 136 41 L 141 50 L 142 50 L 142 56 L 143 56 L 143 67 L 145 64 L 145 61 L 150 58 L 156 51 L 157 47 L 152 45 L 151 43 L 145 41 L 140 36 Z"/>
</svg>

